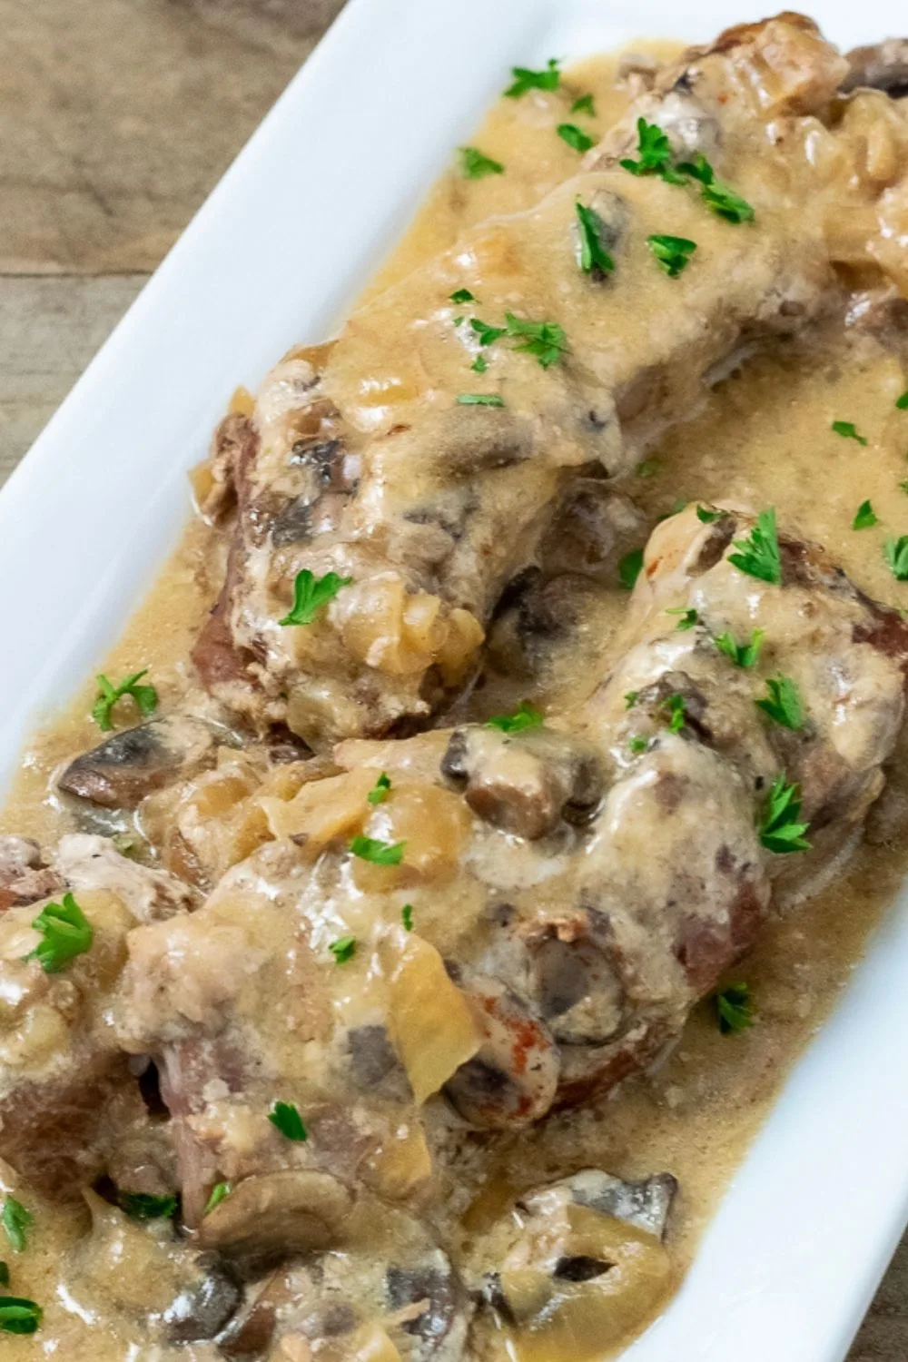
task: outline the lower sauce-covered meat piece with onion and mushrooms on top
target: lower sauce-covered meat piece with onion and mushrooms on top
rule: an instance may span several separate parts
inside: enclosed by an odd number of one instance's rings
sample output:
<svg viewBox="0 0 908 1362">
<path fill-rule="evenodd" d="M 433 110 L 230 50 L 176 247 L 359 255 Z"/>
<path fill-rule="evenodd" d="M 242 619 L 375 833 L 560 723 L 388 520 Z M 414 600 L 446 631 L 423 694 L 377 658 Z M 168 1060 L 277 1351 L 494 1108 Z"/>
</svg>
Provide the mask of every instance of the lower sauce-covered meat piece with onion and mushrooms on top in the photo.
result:
<svg viewBox="0 0 908 1362">
<path fill-rule="evenodd" d="M 519 1128 L 658 1058 L 773 888 L 849 850 L 907 671 L 908 625 L 822 550 L 692 507 L 653 533 L 584 706 L 344 742 L 343 774 L 263 795 L 276 840 L 128 938 L 121 1038 L 162 1065 L 191 1223 L 253 1175 L 418 1204 L 447 1121 Z"/>
</svg>

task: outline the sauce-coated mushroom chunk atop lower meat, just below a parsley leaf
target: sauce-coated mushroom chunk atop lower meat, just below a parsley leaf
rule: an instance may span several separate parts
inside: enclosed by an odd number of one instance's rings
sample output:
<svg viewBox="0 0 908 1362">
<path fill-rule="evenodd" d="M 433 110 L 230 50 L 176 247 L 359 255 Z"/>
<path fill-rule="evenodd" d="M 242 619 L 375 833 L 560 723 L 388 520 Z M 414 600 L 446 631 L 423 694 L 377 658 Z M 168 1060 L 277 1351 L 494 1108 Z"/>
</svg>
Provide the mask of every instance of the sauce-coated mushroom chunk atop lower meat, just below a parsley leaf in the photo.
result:
<svg viewBox="0 0 908 1362">
<path fill-rule="evenodd" d="M 528 840 L 546 836 L 562 820 L 589 819 L 603 787 L 592 749 L 549 729 L 516 734 L 457 729 L 441 774 L 464 789 L 481 819 Z"/>
</svg>

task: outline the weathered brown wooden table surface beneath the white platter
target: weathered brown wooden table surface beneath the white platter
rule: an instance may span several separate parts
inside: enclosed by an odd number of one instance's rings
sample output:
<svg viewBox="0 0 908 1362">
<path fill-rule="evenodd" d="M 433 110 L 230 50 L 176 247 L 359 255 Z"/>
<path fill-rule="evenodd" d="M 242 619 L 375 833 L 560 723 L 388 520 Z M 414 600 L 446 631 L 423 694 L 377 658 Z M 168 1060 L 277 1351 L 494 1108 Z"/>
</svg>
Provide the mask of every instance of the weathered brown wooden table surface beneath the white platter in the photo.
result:
<svg viewBox="0 0 908 1362">
<path fill-rule="evenodd" d="M 0 0 L 0 482 L 342 4 Z M 871 1359 L 908 1362 L 908 1237 Z"/>
</svg>

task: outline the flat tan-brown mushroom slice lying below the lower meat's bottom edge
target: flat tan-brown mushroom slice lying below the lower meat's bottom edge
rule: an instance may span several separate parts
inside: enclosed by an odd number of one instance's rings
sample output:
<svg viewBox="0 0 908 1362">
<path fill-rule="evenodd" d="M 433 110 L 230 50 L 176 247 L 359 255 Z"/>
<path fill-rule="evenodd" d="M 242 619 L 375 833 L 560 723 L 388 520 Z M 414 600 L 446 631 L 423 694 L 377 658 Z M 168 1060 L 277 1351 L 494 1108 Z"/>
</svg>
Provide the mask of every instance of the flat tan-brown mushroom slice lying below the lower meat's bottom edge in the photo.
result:
<svg viewBox="0 0 908 1362">
<path fill-rule="evenodd" d="M 328 1173 L 253 1174 L 204 1216 L 197 1239 L 253 1272 L 336 1244 L 351 1207 L 351 1192 Z"/>
</svg>

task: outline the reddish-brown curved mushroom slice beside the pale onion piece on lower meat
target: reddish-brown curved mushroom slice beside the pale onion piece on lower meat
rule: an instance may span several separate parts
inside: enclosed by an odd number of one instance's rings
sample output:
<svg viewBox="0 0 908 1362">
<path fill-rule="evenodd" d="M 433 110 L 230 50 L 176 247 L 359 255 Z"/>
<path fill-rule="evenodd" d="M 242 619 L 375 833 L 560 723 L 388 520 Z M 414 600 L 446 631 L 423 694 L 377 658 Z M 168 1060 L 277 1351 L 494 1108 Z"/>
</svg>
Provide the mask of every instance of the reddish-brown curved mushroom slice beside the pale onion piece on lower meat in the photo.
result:
<svg viewBox="0 0 908 1362">
<path fill-rule="evenodd" d="M 471 1125 L 505 1130 L 538 1121 L 558 1087 L 551 1032 L 500 979 L 449 966 L 483 1028 L 479 1051 L 445 1083 L 444 1094 Z"/>
</svg>

